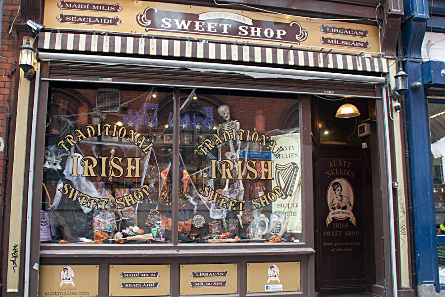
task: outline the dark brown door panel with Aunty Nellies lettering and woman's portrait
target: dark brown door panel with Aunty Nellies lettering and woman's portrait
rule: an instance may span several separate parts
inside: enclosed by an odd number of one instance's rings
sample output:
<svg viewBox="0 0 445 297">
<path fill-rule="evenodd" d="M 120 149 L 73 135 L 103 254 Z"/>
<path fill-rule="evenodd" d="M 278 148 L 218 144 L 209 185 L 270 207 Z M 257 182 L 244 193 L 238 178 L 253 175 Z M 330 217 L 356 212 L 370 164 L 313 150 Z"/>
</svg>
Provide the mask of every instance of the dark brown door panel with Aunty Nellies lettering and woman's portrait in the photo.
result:
<svg viewBox="0 0 445 297">
<path fill-rule="evenodd" d="M 317 162 L 319 292 L 365 289 L 362 162 L 320 158 Z M 345 292 L 345 291 L 343 291 Z"/>
</svg>

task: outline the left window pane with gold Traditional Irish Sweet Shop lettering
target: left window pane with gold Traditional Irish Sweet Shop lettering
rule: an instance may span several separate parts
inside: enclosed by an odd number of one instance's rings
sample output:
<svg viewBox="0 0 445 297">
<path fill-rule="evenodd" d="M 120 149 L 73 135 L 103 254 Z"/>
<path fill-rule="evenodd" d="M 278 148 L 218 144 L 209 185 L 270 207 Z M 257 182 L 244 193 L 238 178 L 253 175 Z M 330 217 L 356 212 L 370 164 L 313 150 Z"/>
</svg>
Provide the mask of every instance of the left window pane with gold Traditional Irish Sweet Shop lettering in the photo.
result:
<svg viewBox="0 0 445 297">
<path fill-rule="evenodd" d="M 43 242 L 170 241 L 171 228 L 156 223 L 172 212 L 173 151 L 159 124 L 173 109 L 161 102 L 172 90 L 52 89 L 42 198 L 50 238 Z"/>
</svg>

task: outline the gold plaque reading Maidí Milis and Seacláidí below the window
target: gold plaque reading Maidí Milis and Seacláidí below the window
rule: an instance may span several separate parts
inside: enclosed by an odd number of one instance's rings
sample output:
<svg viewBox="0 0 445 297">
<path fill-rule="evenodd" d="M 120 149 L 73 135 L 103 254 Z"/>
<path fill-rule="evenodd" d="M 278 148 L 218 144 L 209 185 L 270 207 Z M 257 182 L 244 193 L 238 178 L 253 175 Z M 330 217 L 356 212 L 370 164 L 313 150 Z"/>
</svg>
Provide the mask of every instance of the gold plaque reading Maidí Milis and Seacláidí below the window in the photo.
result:
<svg viewBox="0 0 445 297">
<path fill-rule="evenodd" d="M 170 265 L 110 265 L 109 296 L 170 295 Z"/>
</svg>

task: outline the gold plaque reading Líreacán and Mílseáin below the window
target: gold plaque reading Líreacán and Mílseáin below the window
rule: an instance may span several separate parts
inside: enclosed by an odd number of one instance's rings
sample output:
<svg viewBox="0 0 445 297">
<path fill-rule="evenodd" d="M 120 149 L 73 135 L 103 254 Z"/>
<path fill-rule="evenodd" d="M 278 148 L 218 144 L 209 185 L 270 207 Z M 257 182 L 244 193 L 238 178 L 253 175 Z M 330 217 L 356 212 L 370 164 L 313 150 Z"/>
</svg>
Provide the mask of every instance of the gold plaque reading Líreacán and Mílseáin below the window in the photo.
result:
<svg viewBox="0 0 445 297">
<path fill-rule="evenodd" d="M 180 295 L 238 293 L 238 264 L 181 265 Z"/>
</svg>

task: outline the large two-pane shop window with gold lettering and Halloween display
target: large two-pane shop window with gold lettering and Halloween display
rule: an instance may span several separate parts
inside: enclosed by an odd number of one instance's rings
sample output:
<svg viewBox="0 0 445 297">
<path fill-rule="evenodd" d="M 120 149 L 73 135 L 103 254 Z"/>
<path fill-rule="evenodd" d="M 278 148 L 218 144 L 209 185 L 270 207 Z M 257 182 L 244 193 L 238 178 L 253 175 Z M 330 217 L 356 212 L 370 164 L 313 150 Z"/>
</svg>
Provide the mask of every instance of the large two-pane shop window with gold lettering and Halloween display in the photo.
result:
<svg viewBox="0 0 445 297">
<path fill-rule="evenodd" d="M 49 94 L 41 242 L 302 240 L 298 99 L 83 87 Z"/>
</svg>

